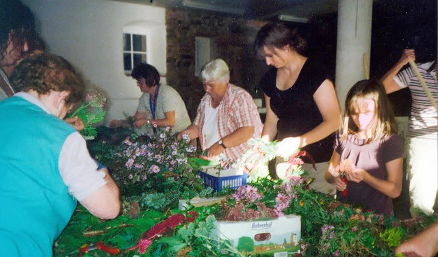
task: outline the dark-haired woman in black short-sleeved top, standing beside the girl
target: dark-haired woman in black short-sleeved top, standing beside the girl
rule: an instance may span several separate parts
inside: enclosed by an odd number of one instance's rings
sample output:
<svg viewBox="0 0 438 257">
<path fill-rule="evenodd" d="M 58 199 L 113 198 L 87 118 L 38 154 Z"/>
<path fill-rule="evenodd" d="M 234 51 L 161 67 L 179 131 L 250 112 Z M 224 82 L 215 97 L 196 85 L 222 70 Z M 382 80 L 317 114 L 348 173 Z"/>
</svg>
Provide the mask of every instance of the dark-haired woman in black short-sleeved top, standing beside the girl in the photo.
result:
<svg viewBox="0 0 438 257">
<path fill-rule="evenodd" d="M 263 79 L 261 89 L 266 99 L 266 120 L 261 137 L 279 143 L 279 156 L 306 150 L 316 162 L 317 171 L 303 159 L 305 178 L 316 178 L 310 187 L 322 193 L 335 193 L 324 180 L 329 162 L 333 132 L 339 128 L 339 103 L 335 87 L 317 59 L 303 55 L 306 42 L 295 29 L 283 23 L 268 23 L 257 33 L 254 49 L 273 66 Z M 277 158 L 276 173 L 285 176 L 287 163 Z M 283 167 L 285 165 L 285 167 Z"/>
</svg>

